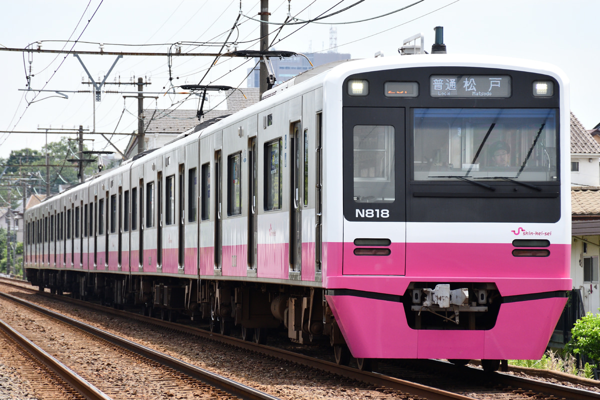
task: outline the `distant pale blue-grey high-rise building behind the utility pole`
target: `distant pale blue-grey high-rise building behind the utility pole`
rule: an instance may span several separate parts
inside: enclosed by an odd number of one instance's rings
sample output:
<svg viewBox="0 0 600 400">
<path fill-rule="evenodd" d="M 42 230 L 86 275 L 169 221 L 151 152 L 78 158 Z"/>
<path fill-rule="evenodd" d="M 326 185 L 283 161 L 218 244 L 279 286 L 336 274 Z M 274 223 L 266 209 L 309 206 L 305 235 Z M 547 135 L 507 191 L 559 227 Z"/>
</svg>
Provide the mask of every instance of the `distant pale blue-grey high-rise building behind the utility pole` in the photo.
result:
<svg viewBox="0 0 600 400">
<path fill-rule="evenodd" d="M 350 59 L 350 53 L 313 53 L 307 55 L 310 62 L 313 63 L 313 67 L 327 64 L 332 61 Z M 273 65 L 273 72 L 275 73 L 275 85 L 286 82 L 296 75 L 303 73 L 304 71 L 310 70 L 310 63 L 304 56 L 296 56 L 290 58 L 271 58 L 271 64 Z M 256 65 L 254 70 L 248 69 L 250 75 L 247 79 L 248 88 L 259 88 L 260 87 L 260 64 Z"/>
</svg>

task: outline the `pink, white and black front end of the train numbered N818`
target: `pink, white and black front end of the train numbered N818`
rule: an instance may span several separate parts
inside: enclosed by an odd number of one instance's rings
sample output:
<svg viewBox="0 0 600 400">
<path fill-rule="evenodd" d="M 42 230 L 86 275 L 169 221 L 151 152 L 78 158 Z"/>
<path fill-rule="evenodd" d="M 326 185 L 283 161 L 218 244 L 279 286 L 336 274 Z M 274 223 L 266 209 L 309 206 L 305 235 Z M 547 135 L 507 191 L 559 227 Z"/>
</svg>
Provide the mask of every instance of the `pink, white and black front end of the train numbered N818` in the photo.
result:
<svg viewBox="0 0 600 400">
<path fill-rule="evenodd" d="M 335 71 L 324 282 L 352 355 L 541 357 L 571 289 L 562 73 L 449 55 Z"/>
</svg>

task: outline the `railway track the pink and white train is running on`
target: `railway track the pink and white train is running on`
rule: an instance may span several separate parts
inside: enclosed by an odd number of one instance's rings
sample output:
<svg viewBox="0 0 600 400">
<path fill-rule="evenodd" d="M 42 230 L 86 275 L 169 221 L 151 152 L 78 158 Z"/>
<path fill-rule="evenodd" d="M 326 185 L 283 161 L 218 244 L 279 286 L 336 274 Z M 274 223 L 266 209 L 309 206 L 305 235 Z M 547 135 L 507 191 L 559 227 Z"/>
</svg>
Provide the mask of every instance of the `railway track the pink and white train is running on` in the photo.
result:
<svg viewBox="0 0 600 400">
<path fill-rule="evenodd" d="M 68 300 L 69 302 L 73 300 L 63 297 L 61 299 Z M 76 301 L 74 303 L 81 304 Z M 184 324 L 173 324 L 139 314 L 131 314 L 126 311 L 91 305 L 90 303 L 83 304 L 104 312 L 110 311 L 124 318 L 136 318 L 136 320 L 143 321 L 146 324 L 182 332 L 187 337 L 194 335 L 219 341 L 227 346 L 233 346 L 238 349 L 242 348 L 245 351 L 258 351 L 266 354 L 266 356 L 283 360 L 286 363 L 309 366 L 319 371 L 326 371 L 327 374 L 343 377 L 344 380 L 357 381 L 367 386 L 374 386 L 380 393 L 391 393 L 394 396 L 401 396 L 403 398 L 406 398 L 406 396 L 430 399 L 525 399 L 535 397 L 538 399 L 565 398 L 588 400 L 600 398 L 600 393 L 595 393 L 591 390 L 524 379 L 515 377 L 514 375 L 500 373 L 486 374 L 480 369 L 457 368 L 448 363 L 433 362 L 431 360 L 420 360 L 418 362 L 412 360 L 410 363 L 398 361 L 380 362 L 379 369 L 377 369 L 379 373 L 362 372 L 355 368 L 338 366 L 326 360 L 303 356 L 292 351 L 256 345 L 230 336 L 221 336 L 197 329 L 196 327 L 185 326 Z M 432 388 L 430 386 L 431 382 L 434 382 L 436 387 Z"/>
</svg>

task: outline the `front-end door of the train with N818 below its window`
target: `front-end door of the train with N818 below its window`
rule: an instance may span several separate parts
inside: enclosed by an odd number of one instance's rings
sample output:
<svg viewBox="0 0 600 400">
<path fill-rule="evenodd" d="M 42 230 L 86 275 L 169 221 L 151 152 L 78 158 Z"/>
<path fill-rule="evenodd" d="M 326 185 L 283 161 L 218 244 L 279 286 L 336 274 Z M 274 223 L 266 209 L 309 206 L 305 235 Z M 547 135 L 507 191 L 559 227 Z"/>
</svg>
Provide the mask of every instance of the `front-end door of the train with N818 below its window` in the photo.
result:
<svg viewBox="0 0 600 400">
<path fill-rule="evenodd" d="M 404 109 L 344 107 L 344 275 L 405 273 L 405 148 Z"/>
</svg>

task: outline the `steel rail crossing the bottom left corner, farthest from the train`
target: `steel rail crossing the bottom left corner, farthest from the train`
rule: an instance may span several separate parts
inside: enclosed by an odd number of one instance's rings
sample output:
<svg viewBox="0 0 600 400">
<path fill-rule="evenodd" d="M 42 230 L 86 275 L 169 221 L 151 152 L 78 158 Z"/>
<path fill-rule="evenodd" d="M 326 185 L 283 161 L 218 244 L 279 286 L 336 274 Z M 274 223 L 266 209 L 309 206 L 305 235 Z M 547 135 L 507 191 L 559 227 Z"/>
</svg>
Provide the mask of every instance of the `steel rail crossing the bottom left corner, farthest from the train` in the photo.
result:
<svg viewBox="0 0 600 400">
<path fill-rule="evenodd" d="M 29 354 L 31 354 L 40 363 L 45 365 L 50 371 L 54 372 L 60 377 L 68 386 L 76 390 L 77 393 L 89 400 L 112 400 L 109 396 L 104 394 L 100 389 L 80 377 L 73 370 L 65 366 L 59 360 L 46 353 L 34 342 L 30 341 L 25 336 L 14 330 L 10 325 L 0 320 L 0 329 L 9 338 L 13 339 L 17 344 L 23 347 Z"/>
</svg>

